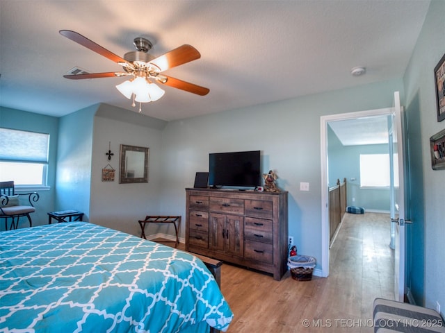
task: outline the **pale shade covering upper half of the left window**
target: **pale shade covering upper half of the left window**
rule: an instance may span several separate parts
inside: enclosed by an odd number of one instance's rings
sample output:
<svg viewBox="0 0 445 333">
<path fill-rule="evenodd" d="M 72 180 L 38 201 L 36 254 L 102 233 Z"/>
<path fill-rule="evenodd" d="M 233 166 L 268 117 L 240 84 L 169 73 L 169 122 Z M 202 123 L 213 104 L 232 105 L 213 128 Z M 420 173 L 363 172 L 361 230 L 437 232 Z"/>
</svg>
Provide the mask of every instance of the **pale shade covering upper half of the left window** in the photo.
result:
<svg viewBox="0 0 445 333">
<path fill-rule="evenodd" d="M 48 162 L 49 134 L 0 128 L 0 160 Z"/>
</svg>

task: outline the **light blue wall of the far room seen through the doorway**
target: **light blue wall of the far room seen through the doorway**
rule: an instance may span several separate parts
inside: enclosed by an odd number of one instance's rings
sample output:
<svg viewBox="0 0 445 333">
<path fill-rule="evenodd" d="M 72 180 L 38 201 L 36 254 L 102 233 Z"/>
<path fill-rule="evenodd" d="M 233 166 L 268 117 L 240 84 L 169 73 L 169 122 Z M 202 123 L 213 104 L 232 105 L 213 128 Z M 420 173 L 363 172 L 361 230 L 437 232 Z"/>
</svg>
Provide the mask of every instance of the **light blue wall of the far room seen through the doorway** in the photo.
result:
<svg viewBox="0 0 445 333">
<path fill-rule="evenodd" d="M 389 212 L 389 189 L 360 188 L 360 154 L 387 154 L 387 144 L 343 146 L 327 126 L 329 186 L 346 178 L 347 205 L 364 207 L 366 211 Z"/>
</svg>

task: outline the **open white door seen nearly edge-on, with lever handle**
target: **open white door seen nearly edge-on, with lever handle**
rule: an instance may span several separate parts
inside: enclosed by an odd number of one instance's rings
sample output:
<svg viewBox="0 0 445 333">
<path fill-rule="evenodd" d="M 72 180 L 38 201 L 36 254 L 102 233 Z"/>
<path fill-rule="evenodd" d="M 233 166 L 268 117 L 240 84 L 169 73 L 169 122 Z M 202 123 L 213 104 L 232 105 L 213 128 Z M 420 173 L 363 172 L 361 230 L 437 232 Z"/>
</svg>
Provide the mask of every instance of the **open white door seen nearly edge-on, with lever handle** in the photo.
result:
<svg viewBox="0 0 445 333">
<path fill-rule="evenodd" d="M 391 130 L 389 131 L 391 234 L 394 237 L 394 297 L 403 302 L 405 294 L 405 183 L 401 112 L 400 96 L 398 92 L 395 92 L 394 111 L 391 114 Z"/>
</svg>

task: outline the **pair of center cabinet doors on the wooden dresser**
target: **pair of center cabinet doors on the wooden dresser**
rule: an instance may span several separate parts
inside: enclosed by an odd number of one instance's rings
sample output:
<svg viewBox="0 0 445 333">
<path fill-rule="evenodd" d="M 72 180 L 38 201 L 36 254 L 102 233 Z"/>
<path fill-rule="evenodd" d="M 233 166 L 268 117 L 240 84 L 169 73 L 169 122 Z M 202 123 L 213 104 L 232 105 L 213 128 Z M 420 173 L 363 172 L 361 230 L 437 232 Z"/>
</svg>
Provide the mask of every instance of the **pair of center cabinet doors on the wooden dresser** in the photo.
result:
<svg viewBox="0 0 445 333">
<path fill-rule="evenodd" d="M 211 213 L 209 249 L 243 257 L 243 229 L 243 216 Z"/>
</svg>

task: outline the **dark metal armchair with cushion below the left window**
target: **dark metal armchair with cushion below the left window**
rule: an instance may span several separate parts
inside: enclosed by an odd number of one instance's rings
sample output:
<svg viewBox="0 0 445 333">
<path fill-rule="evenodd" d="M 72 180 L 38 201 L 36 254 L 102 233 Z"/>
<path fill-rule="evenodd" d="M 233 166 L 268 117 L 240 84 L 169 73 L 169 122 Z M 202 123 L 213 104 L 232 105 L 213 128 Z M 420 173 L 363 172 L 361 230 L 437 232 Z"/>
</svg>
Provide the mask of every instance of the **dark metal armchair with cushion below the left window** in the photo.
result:
<svg viewBox="0 0 445 333">
<path fill-rule="evenodd" d="M 21 205 L 20 197 L 28 196 L 29 205 Z M 39 194 L 36 192 L 15 194 L 14 182 L 0 182 L 0 219 L 5 219 L 5 229 L 8 230 L 8 219 L 11 219 L 9 230 L 17 229 L 19 219 L 26 216 L 29 226 L 32 227 L 30 213 L 35 212 L 33 203 L 39 200 Z"/>
</svg>

